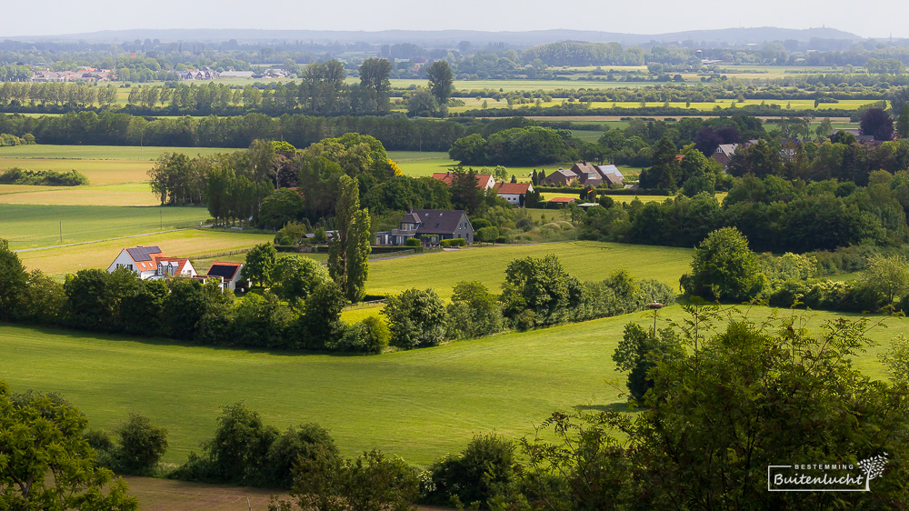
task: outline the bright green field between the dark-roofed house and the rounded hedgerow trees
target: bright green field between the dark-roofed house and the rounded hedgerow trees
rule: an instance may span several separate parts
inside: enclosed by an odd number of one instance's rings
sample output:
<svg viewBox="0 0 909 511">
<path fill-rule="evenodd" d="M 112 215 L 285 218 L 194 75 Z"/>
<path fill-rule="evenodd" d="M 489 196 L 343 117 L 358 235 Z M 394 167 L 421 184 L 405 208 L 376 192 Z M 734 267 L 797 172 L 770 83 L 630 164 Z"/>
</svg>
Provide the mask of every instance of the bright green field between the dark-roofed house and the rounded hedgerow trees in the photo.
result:
<svg viewBox="0 0 909 511">
<path fill-rule="evenodd" d="M 547 215 L 549 216 L 549 215 Z M 638 278 L 654 278 L 678 287 L 678 279 L 688 270 L 694 251 L 651 245 L 624 245 L 594 241 L 543 243 L 537 245 L 485 245 L 454 252 L 435 252 L 369 263 L 366 292 L 370 295 L 395 294 L 418 287 L 431 287 L 443 298 L 463 280 L 478 280 L 494 293 L 504 283 L 505 267 L 521 257 L 558 255 L 573 276 L 584 280 L 603 280 L 619 268 L 627 268 Z"/>
</svg>

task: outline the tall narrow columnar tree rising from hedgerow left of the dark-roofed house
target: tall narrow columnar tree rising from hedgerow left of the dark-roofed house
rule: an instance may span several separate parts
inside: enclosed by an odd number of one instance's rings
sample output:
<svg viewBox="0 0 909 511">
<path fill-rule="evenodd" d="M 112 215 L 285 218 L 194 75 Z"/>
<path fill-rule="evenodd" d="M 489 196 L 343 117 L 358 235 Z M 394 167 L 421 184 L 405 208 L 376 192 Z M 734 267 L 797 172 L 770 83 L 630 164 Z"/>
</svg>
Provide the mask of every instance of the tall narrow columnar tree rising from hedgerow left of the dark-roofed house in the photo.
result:
<svg viewBox="0 0 909 511">
<path fill-rule="evenodd" d="M 369 272 L 369 212 L 360 209 L 360 195 L 355 178 L 341 175 L 338 202 L 335 207 L 337 231 L 328 246 L 328 271 L 344 290 L 348 300 L 356 302 L 365 295 Z"/>
</svg>

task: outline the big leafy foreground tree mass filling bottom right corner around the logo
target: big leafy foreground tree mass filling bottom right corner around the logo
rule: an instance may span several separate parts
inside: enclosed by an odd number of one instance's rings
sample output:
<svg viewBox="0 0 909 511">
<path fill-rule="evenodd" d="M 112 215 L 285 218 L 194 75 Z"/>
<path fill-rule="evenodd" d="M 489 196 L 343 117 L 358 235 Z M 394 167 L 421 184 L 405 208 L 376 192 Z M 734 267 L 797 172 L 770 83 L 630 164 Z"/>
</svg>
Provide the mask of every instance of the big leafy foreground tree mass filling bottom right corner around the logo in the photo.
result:
<svg viewBox="0 0 909 511">
<path fill-rule="evenodd" d="M 873 346 L 864 319 L 809 328 L 804 316 L 757 324 L 733 316 L 724 326 L 714 307 L 687 311 L 670 329 L 684 349 L 654 360 L 647 373 L 653 388 L 640 414 L 557 413 L 535 439 L 521 441 L 528 499 L 554 509 L 892 508 L 906 502 L 905 340 L 884 356 L 887 381 L 853 366 Z M 861 474 L 859 460 L 876 456 L 890 459 L 870 492 L 767 491 L 767 466 L 852 465 L 854 477 Z"/>
</svg>

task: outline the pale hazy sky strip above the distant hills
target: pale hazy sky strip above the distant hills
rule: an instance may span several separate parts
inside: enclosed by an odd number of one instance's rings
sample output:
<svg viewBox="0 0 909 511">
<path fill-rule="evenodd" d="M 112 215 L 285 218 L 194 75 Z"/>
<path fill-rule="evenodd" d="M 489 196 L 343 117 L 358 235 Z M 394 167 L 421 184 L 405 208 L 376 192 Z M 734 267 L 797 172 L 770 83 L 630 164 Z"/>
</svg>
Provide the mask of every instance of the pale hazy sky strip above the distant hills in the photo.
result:
<svg viewBox="0 0 909 511">
<path fill-rule="evenodd" d="M 826 25 L 865 37 L 909 37 L 909 2 L 904 0 L 8 0 L 4 4 L 0 36 L 129 28 L 578 28 L 661 34 L 738 26 Z"/>
</svg>

